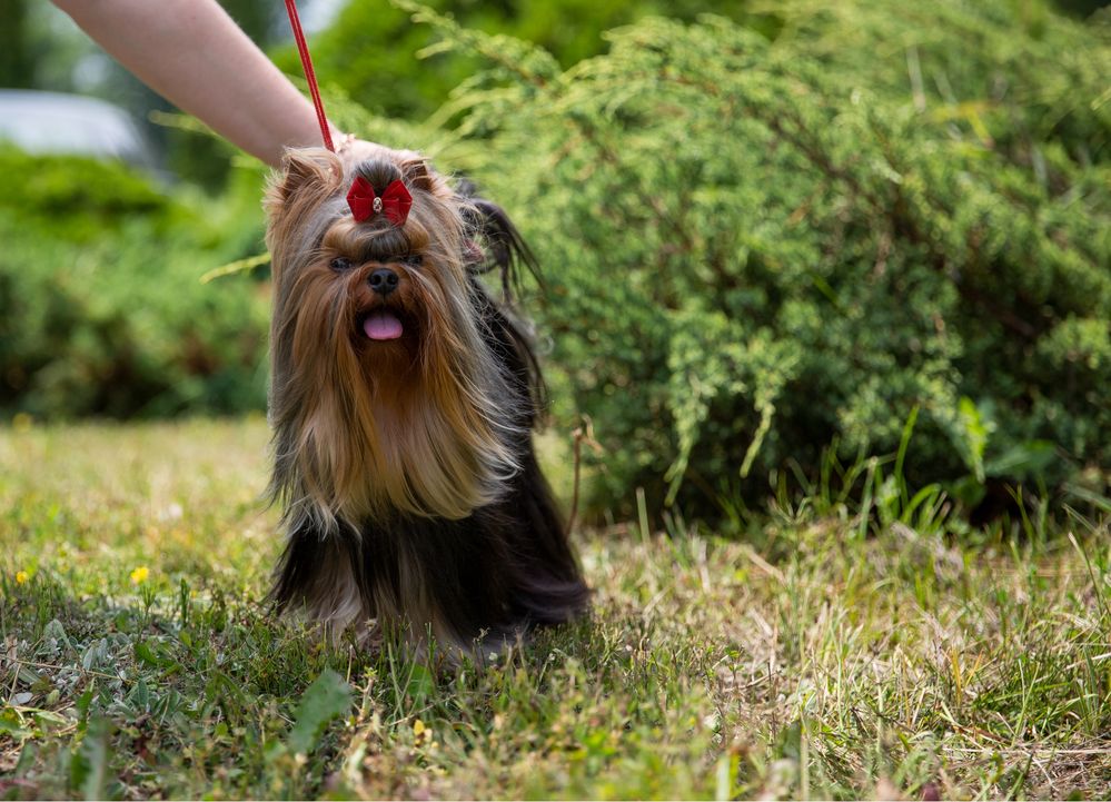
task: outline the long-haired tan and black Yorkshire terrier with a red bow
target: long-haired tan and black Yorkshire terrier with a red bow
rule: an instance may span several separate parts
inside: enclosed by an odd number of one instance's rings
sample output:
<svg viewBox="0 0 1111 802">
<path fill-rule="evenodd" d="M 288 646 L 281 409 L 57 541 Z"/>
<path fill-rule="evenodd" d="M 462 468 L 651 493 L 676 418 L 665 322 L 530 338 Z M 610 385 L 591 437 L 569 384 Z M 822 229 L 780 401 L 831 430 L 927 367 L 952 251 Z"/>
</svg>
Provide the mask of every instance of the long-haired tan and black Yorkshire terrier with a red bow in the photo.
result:
<svg viewBox="0 0 1111 802">
<path fill-rule="evenodd" d="M 456 654 L 582 613 L 530 337 L 480 278 L 535 269 L 505 212 L 386 149 L 290 150 L 265 205 L 276 607 Z"/>
</svg>

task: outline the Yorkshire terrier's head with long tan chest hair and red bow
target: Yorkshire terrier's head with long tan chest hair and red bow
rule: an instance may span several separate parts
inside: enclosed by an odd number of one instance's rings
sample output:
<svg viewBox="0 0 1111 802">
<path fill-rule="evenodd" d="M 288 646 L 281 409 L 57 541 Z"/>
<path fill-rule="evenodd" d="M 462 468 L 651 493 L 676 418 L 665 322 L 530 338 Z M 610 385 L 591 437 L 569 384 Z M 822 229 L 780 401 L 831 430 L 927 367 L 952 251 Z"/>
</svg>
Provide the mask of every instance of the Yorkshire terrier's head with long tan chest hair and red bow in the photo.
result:
<svg viewBox="0 0 1111 802">
<path fill-rule="evenodd" d="M 421 158 L 289 151 L 267 192 L 271 489 L 328 527 L 458 518 L 516 469 L 474 202 Z"/>
</svg>

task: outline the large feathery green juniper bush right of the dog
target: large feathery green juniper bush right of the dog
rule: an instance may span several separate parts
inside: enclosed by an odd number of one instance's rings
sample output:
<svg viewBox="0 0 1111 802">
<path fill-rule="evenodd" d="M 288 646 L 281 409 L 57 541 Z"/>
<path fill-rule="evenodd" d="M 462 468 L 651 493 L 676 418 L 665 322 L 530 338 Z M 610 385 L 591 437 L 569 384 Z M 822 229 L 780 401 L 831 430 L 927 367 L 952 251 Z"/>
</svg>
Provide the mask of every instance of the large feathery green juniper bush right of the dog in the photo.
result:
<svg viewBox="0 0 1111 802">
<path fill-rule="evenodd" d="M 831 442 L 893 453 L 915 408 L 913 482 L 1102 488 L 1108 29 L 1004 0 L 745 8 L 762 32 L 645 20 L 568 70 L 418 12 L 493 63 L 454 105 L 485 143 L 464 166 L 546 268 L 596 501 L 763 496 Z"/>
</svg>

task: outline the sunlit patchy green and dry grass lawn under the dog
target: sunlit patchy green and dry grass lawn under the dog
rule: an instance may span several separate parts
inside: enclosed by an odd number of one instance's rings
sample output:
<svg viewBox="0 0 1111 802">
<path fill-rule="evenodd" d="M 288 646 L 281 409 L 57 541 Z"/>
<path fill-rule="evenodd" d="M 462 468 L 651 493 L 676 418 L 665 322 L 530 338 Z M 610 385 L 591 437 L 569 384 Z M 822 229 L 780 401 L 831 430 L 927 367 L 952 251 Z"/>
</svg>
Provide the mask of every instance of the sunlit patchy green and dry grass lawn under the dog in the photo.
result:
<svg viewBox="0 0 1111 802">
<path fill-rule="evenodd" d="M 0 430 L 0 796 L 1111 794 L 1105 523 L 954 534 L 872 464 L 872 525 L 583 534 L 589 621 L 434 675 L 260 606 L 266 437 Z"/>
</svg>

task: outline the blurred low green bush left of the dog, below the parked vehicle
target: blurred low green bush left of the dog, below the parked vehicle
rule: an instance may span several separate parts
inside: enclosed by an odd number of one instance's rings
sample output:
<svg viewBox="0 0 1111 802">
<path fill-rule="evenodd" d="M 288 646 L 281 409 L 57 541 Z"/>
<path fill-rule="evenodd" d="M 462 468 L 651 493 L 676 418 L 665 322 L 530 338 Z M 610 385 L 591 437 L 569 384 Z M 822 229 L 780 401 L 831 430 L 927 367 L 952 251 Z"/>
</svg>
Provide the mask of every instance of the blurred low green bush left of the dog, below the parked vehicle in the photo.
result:
<svg viewBox="0 0 1111 802">
<path fill-rule="evenodd" d="M 229 204 L 171 199 L 118 165 L 3 150 L 0 169 L 0 414 L 265 405 L 267 288 L 199 281 L 260 247 L 257 174 L 236 231 Z"/>
</svg>

